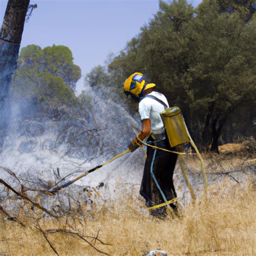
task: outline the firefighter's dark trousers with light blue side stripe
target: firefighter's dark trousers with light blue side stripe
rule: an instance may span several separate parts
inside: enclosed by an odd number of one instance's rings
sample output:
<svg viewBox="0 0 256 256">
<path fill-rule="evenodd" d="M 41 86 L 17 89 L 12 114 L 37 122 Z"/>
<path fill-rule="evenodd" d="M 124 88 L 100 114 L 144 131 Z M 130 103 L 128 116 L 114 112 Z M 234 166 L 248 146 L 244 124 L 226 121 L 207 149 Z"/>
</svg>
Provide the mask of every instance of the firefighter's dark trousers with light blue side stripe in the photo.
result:
<svg viewBox="0 0 256 256">
<path fill-rule="evenodd" d="M 167 138 L 161 142 L 152 142 L 151 145 L 173 150 L 170 147 L 169 140 Z M 156 151 L 156 153 L 154 153 L 154 151 Z M 140 194 L 146 199 L 148 207 L 164 203 L 163 196 L 161 196 L 159 188 L 151 175 L 151 170 L 153 170 L 153 174 L 156 177 L 166 199 L 169 201 L 174 197 L 177 197 L 172 179 L 177 156 L 178 154 L 153 149 L 152 147 L 147 146 L 147 159 L 144 166 Z M 171 206 L 174 207 L 173 204 Z"/>
</svg>

